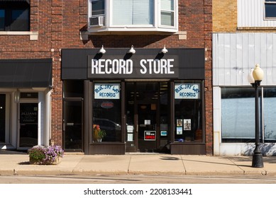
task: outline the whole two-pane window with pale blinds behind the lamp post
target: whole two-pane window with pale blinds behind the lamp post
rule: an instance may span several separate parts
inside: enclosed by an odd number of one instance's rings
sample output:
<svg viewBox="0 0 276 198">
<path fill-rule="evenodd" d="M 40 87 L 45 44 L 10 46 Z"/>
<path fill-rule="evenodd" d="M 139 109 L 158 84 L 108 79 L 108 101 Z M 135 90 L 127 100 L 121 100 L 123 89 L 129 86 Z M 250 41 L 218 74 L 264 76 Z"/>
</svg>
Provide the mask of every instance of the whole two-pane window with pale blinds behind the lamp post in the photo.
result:
<svg viewBox="0 0 276 198">
<path fill-rule="evenodd" d="M 272 142 L 276 140 L 276 88 L 260 88 L 259 96 L 260 141 Z M 222 142 L 255 141 L 253 88 L 221 88 L 221 133 Z"/>
</svg>

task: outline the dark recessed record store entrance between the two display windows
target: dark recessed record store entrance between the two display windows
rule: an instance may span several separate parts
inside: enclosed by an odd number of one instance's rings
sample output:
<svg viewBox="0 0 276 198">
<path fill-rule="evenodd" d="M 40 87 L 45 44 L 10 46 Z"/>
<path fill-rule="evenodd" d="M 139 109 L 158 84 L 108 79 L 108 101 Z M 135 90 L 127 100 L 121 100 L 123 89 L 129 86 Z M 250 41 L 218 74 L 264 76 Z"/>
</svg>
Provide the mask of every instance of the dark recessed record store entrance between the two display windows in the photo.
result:
<svg viewBox="0 0 276 198">
<path fill-rule="evenodd" d="M 169 139 L 168 82 L 126 83 L 126 152 L 164 151 Z"/>
</svg>

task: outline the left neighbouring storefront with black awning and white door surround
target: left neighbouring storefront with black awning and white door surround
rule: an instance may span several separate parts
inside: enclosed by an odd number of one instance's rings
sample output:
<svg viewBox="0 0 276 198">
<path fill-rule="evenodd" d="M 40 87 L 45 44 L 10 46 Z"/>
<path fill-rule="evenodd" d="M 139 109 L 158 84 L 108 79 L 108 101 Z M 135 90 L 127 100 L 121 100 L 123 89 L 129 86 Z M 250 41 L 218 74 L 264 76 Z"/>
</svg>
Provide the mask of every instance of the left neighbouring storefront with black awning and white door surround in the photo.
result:
<svg viewBox="0 0 276 198">
<path fill-rule="evenodd" d="M 0 60 L 0 149 L 48 145 L 52 59 Z"/>
</svg>

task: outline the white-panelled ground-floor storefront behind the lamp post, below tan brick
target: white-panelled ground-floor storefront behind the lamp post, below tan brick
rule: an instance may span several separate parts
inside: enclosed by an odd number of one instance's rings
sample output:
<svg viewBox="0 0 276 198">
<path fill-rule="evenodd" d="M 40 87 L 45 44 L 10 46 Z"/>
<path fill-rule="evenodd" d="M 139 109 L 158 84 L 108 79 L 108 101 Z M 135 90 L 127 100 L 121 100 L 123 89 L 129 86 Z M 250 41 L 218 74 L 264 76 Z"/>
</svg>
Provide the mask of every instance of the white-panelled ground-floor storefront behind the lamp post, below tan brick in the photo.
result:
<svg viewBox="0 0 276 198">
<path fill-rule="evenodd" d="M 261 41 L 261 42 L 260 42 Z M 252 155 L 255 149 L 255 90 L 250 69 L 264 71 L 259 88 L 260 148 L 276 154 L 275 33 L 214 33 L 214 155 Z"/>
</svg>

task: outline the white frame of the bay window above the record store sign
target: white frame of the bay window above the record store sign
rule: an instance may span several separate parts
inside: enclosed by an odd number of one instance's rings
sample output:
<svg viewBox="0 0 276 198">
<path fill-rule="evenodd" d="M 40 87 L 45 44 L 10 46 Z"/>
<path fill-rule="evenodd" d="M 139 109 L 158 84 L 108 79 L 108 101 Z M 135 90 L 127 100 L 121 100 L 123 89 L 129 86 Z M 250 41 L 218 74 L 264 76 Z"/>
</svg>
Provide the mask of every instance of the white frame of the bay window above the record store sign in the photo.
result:
<svg viewBox="0 0 276 198">
<path fill-rule="evenodd" d="M 92 1 L 88 0 L 88 24 L 89 18 L 92 17 Z M 105 24 L 101 26 L 89 26 L 89 33 L 111 33 L 111 32 L 165 32 L 165 33 L 177 33 L 178 31 L 178 0 L 174 0 L 174 26 L 170 25 L 161 25 L 161 0 L 154 1 L 154 13 L 153 13 L 153 25 L 113 25 L 112 24 L 112 5 L 114 4 L 113 0 L 105 0 Z"/>
</svg>

